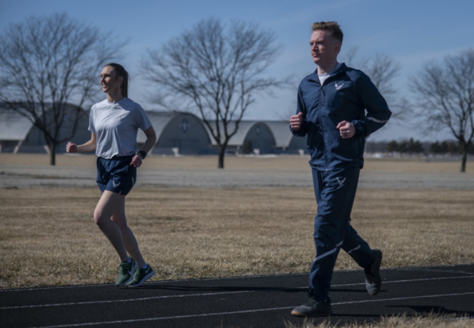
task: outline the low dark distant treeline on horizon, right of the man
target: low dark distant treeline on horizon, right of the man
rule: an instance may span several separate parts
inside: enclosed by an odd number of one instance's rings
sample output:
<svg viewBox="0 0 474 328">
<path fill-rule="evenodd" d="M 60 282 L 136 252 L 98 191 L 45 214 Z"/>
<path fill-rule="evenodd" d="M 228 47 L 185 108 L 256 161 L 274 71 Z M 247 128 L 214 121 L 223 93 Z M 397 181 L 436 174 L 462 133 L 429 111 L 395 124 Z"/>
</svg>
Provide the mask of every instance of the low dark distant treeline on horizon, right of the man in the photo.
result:
<svg viewBox="0 0 474 328">
<path fill-rule="evenodd" d="M 453 140 L 421 142 L 419 140 L 392 140 L 390 142 L 366 142 L 365 152 L 399 152 L 408 154 L 462 154 L 462 147 L 459 142 Z M 474 154 L 474 146 L 469 147 L 469 154 Z"/>
</svg>

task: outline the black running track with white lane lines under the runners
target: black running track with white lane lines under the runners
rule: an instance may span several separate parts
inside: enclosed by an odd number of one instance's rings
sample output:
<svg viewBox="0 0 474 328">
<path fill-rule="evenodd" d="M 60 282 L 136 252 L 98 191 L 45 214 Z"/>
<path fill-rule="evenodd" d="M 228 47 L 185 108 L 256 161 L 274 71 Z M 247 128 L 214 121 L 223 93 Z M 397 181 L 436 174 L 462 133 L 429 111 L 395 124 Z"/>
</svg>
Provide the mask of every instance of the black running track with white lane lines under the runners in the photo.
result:
<svg viewBox="0 0 474 328">
<path fill-rule="evenodd" d="M 364 274 L 337 271 L 332 323 L 434 311 L 467 315 L 474 326 L 474 265 L 382 270 L 382 290 Z M 307 274 L 0 290 L 0 327 L 285 327 L 308 300 Z M 315 318 L 315 323 L 327 318 Z"/>
</svg>

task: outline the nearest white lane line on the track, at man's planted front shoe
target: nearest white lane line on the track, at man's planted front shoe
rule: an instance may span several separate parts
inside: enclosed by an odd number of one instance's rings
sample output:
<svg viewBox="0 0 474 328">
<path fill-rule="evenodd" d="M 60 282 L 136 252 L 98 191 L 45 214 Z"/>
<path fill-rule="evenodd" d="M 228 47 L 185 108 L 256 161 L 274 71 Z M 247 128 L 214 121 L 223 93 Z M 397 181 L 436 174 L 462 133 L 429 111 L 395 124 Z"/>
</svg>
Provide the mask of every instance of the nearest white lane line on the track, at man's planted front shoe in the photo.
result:
<svg viewBox="0 0 474 328">
<path fill-rule="evenodd" d="M 471 293 L 453 293 L 453 294 L 441 294 L 441 295 L 425 295 L 425 296 L 410 296 L 410 297 L 396 297 L 396 298 L 387 298 L 381 300 L 367 300 L 367 301 L 348 301 L 348 302 L 337 302 L 332 305 L 346 305 L 346 304 L 356 304 L 364 302 L 382 302 L 382 301 L 400 301 L 400 300 L 414 300 L 420 298 L 432 298 L 432 297 L 443 297 L 443 296 L 461 296 L 461 295 L 471 295 Z M 279 308 L 269 308 L 269 309 L 258 309 L 258 310 L 242 310 L 242 311 L 231 311 L 231 312 L 217 312 L 217 313 L 201 313 L 201 314 L 190 314 L 185 316 L 173 316 L 173 317 L 157 317 L 157 318 L 146 318 L 146 319 L 129 319 L 129 320 L 115 320 L 115 321 L 102 321 L 102 322 L 86 322 L 86 323 L 76 323 L 69 325 L 55 325 L 55 326 L 41 326 L 33 328 L 62 328 L 62 327 L 82 327 L 82 326 L 96 326 L 96 325 L 106 325 L 106 324 L 117 324 L 117 323 L 131 323 L 131 322 L 143 322 L 143 321 L 157 321 L 157 320 L 168 320 L 168 319 L 186 319 L 186 318 L 198 318 L 198 317 L 210 317 L 218 315 L 227 315 L 227 314 L 240 314 L 240 313 L 250 313 L 250 312 L 263 312 L 263 311 L 274 311 L 274 310 L 284 310 L 292 309 L 295 306 L 284 306 Z"/>
</svg>

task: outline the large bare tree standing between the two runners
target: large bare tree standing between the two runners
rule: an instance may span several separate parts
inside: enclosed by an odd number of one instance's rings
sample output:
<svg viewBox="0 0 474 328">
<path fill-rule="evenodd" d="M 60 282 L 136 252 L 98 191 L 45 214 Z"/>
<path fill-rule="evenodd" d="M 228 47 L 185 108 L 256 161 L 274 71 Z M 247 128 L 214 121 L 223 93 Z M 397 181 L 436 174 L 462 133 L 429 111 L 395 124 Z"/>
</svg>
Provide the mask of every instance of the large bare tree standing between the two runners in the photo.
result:
<svg viewBox="0 0 474 328">
<path fill-rule="evenodd" d="M 273 32 L 255 24 L 232 21 L 225 27 L 209 18 L 148 51 L 142 62 L 143 74 L 159 87 L 156 103 L 201 116 L 219 147 L 219 168 L 224 168 L 228 142 L 255 95 L 287 82 L 264 77 L 280 53 L 274 42 Z"/>
</svg>

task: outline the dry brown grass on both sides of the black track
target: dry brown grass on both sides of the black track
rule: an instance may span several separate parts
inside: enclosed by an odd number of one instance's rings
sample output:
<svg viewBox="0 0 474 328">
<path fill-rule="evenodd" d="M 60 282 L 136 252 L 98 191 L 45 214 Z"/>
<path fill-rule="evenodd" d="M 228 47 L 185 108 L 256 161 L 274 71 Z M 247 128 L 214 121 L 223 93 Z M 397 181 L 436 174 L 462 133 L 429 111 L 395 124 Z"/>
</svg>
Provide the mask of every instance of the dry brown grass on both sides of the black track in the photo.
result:
<svg viewBox="0 0 474 328">
<path fill-rule="evenodd" d="M 310 179 L 307 161 L 300 156 L 227 157 L 225 165 L 229 170 L 299 170 Z M 0 171 L 48 163 L 47 155 L 0 154 Z M 94 156 L 57 157 L 58 167 L 94 165 Z M 216 165 L 214 156 L 150 156 L 144 167 L 186 172 Z M 364 170 L 457 173 L 459 163 L 366 160 Z M 99 196 L 97 188 L 0 189 L 0 288 L 112 283 L 118 257 L 92 220 Z M 383 250 L 385 268 L 473 263 L 473 199 L 474 190 L 359 189 L 352 222 L 372 247 Z M 314 257 L 316 202 L 310 187 L 136 187 L 127 196 L 126 211 L 156 271 L 152 280 L 301 273 L 308 272 Z M 341 252 L 336 270 L 345 269 L 358 267 Z M 399 316 L 347 327 L 470 325 L 472 320 Z M 309 320 L 301 327 L 332 326 Z"/>
</svg>

